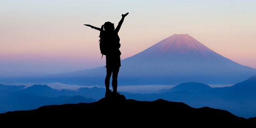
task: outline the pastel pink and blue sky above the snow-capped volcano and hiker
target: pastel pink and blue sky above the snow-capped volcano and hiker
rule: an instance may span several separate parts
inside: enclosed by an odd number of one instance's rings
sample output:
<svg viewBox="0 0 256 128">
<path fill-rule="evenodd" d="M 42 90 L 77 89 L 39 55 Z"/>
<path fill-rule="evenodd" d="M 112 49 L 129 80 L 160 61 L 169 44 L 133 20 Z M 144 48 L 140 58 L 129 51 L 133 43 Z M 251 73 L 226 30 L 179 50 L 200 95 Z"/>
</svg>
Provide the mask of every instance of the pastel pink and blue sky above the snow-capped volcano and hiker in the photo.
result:
<svg viewBox="0 0 256 128">
<path fill-rule="evenodd" d="M 256 0 L 0 0 L 0 73 L 63 73 L 105 65 L 99 31 L 129 12 L 121 58 L 173 34 L 256 68 Z"/>
</svg>

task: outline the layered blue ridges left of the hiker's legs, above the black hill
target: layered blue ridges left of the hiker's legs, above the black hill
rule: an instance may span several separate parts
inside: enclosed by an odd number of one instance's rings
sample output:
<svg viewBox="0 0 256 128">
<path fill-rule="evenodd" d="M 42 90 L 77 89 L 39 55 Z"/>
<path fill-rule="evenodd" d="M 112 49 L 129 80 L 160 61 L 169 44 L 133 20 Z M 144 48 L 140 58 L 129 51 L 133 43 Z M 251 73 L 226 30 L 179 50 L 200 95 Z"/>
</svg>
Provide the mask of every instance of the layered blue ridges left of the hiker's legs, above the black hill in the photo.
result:
<svg viewBox="0 0 256 128">
<path fill-rule="evenodd" d="M 95 102 L 102 98 L 105 89 L 80 88 L 78 91 L 56 90 L 47 85 L 30 87 L 0 84 L 0 113 L 16 110 L 31 110 L 43 105 Z M 81 96 L 78 96 L 81 95 Z M 90 96 L 90 97 L 88 97 Z"/>
</svg>

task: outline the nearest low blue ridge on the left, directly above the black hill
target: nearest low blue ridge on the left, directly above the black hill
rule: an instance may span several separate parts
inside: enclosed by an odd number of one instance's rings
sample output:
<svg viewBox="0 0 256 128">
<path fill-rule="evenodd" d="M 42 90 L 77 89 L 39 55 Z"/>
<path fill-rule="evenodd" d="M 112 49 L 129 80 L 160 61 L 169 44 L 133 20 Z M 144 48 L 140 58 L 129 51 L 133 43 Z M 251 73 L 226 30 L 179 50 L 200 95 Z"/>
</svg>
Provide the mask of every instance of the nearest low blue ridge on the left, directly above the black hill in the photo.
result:
<svg viewBox="0 0 256 128">
<path fill-rule="evenodd" d="M 43 105 L 61 105 L 95 101 L 96 100 L 91 98 L 81 98 L 81 96 L 48 97 L 0 90 L 0 113 L 17 110 L 31 110 Z"/>
</svg>

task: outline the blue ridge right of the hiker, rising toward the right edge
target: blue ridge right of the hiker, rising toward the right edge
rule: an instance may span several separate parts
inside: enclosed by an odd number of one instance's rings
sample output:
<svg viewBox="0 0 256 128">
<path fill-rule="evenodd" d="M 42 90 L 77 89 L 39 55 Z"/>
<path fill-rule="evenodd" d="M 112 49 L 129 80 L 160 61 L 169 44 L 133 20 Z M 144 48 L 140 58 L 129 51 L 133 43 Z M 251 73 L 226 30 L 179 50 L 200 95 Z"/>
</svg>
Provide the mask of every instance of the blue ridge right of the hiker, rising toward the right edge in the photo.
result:
<svg viewBox="0 0 256 128">
<path fill-rule="evenodd" d="M 189 85 L 186 87 L 189 87 Z M 168 101 L 184 102 L 195 108 L 202 106 L 219 108 L 247 118 L 256 116 L 256 76 L 230 87 L 206 88 L 201 91 L 194 91 L 194 89 L 190 90 L 189 88 L 181 88 L 175 91 L 171 88 L 170 90 L 164 90 L 163 93 L 153 94 L 123 94 L 128 99 L 140 101 L 154 101 L 161 98 Z"/>
</svg>

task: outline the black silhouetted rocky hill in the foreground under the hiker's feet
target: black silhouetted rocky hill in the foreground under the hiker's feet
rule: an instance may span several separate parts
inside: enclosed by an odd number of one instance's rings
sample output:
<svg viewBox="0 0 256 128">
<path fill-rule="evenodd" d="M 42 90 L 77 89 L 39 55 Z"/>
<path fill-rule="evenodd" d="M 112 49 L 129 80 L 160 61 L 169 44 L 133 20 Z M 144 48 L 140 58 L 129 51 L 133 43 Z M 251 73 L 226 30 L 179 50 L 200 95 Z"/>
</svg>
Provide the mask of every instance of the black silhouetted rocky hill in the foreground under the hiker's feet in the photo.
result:
<svg viewBox="0 0 256 128">
<path fill-rule="evenodd" d="M 83 126 L 196 126 L 196 127 L 240 127 L 255 128 L 256 118 L 245 119 L 224 110 L 192 108 L 182 102 L 158 99 L 153 102 L 133 99 L 106 99 L 98 102 L 50 105 L 31 111 L 14 111 L 0 114 L 4 120 L 29 120 L 47 124 L 46 120 L 58 124 Z M 81 121 L 82 120 L 82 121 Z M 117 125 L 121 124 L 121 125 Z"/>
</svg>

